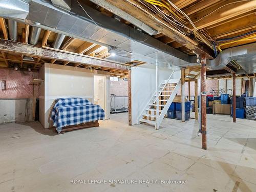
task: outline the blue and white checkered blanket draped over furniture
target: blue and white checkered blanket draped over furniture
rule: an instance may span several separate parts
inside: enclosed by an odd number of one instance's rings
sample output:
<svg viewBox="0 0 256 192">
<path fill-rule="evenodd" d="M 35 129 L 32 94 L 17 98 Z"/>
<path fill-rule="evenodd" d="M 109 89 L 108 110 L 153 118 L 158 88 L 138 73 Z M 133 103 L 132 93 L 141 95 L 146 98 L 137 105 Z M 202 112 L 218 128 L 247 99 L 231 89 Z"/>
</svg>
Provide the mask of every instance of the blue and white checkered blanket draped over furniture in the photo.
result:
<svg viewBox="0 0 256 192">
<path fill-rule="evenodd" d="M 62 127 L 96 120 L 104 120 L 105 112 L 99 105 L 84 98 L 58 98 L 53 107 L 51 120 L 58 133 Z"/>
</svg>

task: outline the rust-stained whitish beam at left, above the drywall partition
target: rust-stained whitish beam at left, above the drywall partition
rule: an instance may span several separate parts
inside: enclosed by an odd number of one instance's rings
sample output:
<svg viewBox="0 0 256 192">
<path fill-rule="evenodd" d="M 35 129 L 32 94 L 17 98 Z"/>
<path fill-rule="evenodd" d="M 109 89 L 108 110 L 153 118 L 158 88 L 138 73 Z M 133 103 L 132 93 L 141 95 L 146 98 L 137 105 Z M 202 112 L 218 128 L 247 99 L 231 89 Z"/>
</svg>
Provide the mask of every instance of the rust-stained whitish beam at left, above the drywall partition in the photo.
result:
<svg viewBox="0 0 256 192">
<path fill-rule="evenodd" d="M 89 57 L 86 55 L 80 55 L 71 52 L 65 52 L 62 50 L 55 50 L 51 48 L 41 48 L 31 45 L 24 45 L 19 42 L 9 41 L 0 39 L 0 51 L 7 51 L 11 53 L 32 55 L 32 56 L 41 56 L 49 59 L 57 59 L 62 61 L 70 61 L 75 63 L 88 64 L 93 66 L 101 66 L 119 70 L 131 70 L 131 65 L 124 63 L 114 62 L 110 60 L 104 60 L 96 57 Z"/>
</svg>

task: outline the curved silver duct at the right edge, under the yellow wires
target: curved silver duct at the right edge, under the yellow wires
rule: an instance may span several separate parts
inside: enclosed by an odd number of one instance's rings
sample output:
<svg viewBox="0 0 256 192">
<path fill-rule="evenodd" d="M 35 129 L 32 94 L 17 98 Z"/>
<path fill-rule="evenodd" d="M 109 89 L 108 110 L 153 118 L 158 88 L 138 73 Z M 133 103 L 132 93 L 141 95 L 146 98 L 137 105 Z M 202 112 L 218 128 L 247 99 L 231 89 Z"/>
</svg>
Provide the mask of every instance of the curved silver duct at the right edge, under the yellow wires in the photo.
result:
<svg viewBox="0 0 256 192">
<path fill-rule="evenodd" d="M 207 60 L 206 67 L 220 70 L 231 60 L 236 61 L 246 73 L 256 73 L 256 43 L 225 49 L 215 59 Z"/>
</svg>

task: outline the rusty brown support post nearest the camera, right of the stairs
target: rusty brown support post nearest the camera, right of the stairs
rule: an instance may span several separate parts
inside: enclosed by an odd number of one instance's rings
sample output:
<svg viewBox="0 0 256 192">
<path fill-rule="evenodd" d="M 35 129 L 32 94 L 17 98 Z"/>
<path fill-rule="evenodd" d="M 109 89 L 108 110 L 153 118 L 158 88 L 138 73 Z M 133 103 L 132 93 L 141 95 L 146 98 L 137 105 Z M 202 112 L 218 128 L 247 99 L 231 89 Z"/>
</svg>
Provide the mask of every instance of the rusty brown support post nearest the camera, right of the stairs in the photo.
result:
<svg viewBox="0 0 256 192">
<path fill-rule="evenodd" d="M 207 139 L 206 139 L 206 58 L 202 55 L 201 60 L 201 126 L 202 126 L 202 148 L 207 149 Z"/>
</svg>

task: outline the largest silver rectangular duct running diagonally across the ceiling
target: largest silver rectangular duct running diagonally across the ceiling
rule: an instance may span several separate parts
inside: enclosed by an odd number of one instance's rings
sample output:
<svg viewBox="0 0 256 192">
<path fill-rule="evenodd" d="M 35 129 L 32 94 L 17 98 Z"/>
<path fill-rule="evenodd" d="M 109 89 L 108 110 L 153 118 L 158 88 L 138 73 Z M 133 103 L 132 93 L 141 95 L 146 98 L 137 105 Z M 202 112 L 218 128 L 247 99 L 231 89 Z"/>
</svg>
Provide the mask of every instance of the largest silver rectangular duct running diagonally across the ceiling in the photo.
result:
<svg viewBox="0 0 256 192">
<path fill-rule="evenodd" d="M 196 56 L 189 56 L 91 7 L 81 6 L 72 1 L 71 11 L 67 12 L 50 0 L 30 0 L 29 14 L 23 22 L 30 20 L 40 23 L 37 27 L 45 30 L 110 46 L 116 56 L 111 55 L 109 59 L 118 62 L 141 60 L 167 68 L 199 65 Z"/>
</svg>

